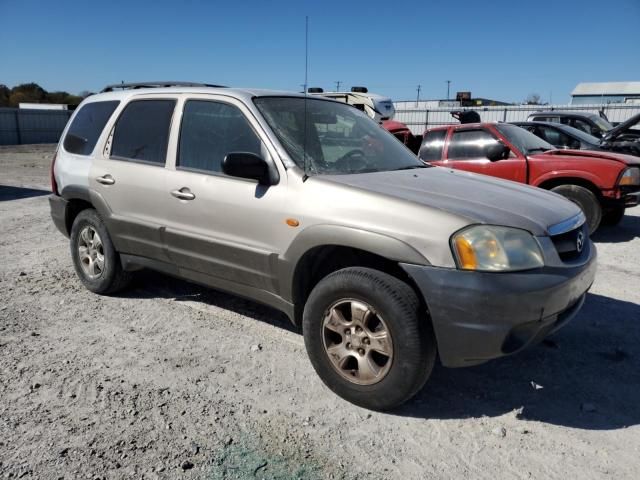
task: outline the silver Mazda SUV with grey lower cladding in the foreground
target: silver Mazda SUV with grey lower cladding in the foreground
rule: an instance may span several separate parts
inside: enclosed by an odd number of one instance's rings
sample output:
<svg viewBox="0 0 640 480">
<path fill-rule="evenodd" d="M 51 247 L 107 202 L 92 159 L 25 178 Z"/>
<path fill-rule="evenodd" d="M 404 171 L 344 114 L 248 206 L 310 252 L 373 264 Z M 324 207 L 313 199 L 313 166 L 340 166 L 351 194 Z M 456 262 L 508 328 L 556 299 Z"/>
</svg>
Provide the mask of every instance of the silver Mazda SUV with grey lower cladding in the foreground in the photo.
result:
<svg viewBox="0 0 640 480">
<path fill-rule="evenodd" d="M 51 213 L 82 283 L 149 268 L 302 327 L 343 398 L 389 409 L 448 367 L 566 323 L 595 275 L 577 206 L 430 167 L 354 107 L 284 92 L 108 87 L 70 119 Z"/>
</svg>

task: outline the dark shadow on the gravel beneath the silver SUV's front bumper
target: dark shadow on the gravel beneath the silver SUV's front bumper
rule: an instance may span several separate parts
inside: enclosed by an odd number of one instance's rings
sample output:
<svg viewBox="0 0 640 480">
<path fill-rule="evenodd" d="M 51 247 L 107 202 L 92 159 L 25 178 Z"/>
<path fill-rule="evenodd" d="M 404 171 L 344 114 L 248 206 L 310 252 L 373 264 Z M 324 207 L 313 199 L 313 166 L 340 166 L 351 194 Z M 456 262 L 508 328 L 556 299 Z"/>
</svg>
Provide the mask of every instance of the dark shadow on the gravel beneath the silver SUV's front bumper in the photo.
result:
<svg viewBox="0 0 640 480">
<path fill-rule="evenodd" d="M 640 305 L 589 294 L 578 317 L 541 345 L 477 367 L 437 368 L 392 413 L 463 419 L 515 411 L 573 428 L 625 428 L 640 423 L 639 372 Z"/>
</svg>

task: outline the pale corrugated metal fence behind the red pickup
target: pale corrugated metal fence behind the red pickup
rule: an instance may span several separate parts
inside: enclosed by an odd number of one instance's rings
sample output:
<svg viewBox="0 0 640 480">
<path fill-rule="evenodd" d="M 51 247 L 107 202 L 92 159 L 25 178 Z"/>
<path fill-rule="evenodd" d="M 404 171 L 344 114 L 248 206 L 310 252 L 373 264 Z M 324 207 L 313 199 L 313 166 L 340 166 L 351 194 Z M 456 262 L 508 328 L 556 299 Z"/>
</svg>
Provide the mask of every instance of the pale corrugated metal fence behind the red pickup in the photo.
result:
<svg viewBox="0 0 640 480">
<path fill-rule="evenodd" d="M 427 128 L 441 125 L 456 125 L 458 121 L 451 116 L 456 110 L 475 110 L 483 122 L 518 122 L 527 119 L 529 114 L 541 111 L 582 111 L 598 113 L 603 111 L 609 121 L 620 123 L 640 113 L 640 105 L 509 105 L 501 107 L 457 107 L 424 108 L 416 107 L 415 101 L 394 102 L 396 114 L 394 120 L 407 125 L 416 135 L 422 135 Z"/>
</svg>

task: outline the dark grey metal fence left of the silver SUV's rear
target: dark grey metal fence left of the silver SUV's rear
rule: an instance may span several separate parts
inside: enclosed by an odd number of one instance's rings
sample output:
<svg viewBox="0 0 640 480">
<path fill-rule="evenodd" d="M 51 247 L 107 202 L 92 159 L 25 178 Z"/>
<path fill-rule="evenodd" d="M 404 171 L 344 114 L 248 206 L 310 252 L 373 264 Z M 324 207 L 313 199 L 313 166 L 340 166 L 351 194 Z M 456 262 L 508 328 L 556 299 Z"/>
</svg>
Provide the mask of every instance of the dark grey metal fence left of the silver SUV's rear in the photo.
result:
<svg viewBox="0 0 640 480">
<path fill-rule="evenodd" d="M 72 113 L 0 108 L 0 145 L 57 143 Z"/>
</svg>

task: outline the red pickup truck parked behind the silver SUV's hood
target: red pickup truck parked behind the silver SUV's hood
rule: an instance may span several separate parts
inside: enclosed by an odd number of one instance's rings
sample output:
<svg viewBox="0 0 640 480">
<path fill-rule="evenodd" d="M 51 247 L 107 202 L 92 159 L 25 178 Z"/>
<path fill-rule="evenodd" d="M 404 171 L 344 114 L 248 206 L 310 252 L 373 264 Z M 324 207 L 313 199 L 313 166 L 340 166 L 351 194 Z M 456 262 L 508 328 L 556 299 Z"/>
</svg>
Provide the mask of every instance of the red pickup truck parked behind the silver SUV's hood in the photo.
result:
<svg viewBox="0 0 640 480">
<path fill-rule="evenodd" d="M 556 192 L 582 208 L 590 232 L 620 222 L 640 200 L 640 158 L 557 150 L 523 128 L 471 123 L 427 130 L 418 153 L 432 165 L 482 173 Z M 508 205 L 505 207 L 508 208 Z"/>
</svg>

